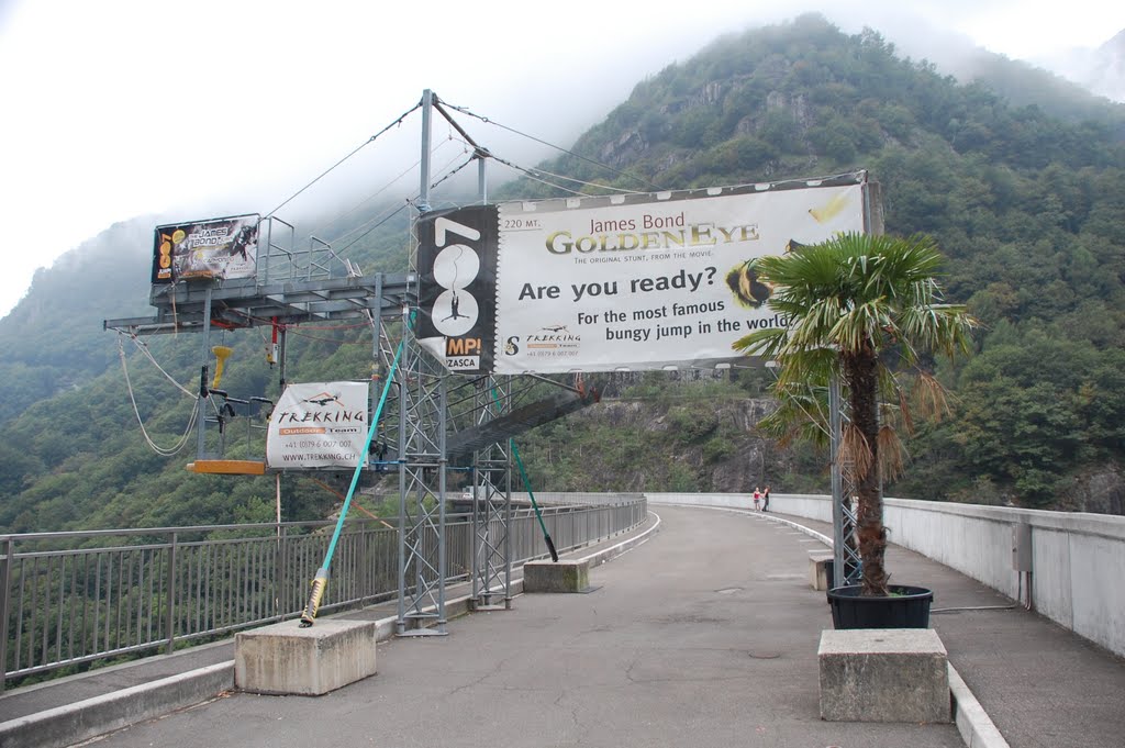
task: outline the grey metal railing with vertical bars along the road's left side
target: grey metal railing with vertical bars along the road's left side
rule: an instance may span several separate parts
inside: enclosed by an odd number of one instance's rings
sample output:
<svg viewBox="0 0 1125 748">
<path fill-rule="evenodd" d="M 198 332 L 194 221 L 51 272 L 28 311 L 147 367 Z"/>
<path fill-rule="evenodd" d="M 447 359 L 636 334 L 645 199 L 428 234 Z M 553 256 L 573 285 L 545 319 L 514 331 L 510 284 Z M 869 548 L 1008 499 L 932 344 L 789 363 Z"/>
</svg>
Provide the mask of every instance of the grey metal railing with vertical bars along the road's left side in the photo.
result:
<svg viewBox="0 0 1125 748">
<path fill-rule="evenodd" d="M 646 515 L 639 495 L 603 506 L 543 510 L 560 551 L 624 532 Z M 0 690 L 16 678 L 171 652 L 186 642 L 295 618 L 333 524 L 0 535 Z M 513 564 L 547 555 L 531 511 L 513 512 L 511 532 Z M 471 540 L 469 517 L 453 515 L 446 535 L 449 582 L 468 578 Z M 436 558 L 436 549 L 428 552 Z M 397 579 L 397 531 L 375 521 L 349 522 L 321 610 L 392 600 Z"/>
</svg>

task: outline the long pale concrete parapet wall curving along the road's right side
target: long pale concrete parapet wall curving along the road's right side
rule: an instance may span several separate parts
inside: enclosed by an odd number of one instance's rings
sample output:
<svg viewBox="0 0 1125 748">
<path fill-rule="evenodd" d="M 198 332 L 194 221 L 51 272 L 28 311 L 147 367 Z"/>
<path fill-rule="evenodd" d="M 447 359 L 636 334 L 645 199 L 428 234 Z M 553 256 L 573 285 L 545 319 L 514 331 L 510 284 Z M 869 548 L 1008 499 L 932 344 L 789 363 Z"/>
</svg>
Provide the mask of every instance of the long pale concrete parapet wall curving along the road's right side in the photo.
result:
<svg viewBox="0 0 1125 748">
<path fill-rule="evenodd" d="M 749 508 L 740 494 L 648 494 L 650 505 Z M 774 494 L 771 508 L 831 522 L 828 496 Z M 909 548 L 1016 598 L 1012 531 L 1032 529 L 1035 610 L 1110 651 L 1125 656 L 1125 517 L 888 498 L 891 542 Z M 1026 600 L 1026 593 L 1024 593 Z"/>
</svg>

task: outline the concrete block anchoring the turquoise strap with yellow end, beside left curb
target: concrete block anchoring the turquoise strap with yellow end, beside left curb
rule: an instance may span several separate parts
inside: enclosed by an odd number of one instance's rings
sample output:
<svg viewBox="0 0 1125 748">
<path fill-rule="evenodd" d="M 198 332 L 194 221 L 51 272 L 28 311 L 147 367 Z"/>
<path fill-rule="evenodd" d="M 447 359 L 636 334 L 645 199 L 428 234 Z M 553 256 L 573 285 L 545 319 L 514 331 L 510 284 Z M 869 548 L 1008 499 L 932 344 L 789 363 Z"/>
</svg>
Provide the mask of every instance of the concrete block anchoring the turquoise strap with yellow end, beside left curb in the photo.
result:
<svg viewBox="0 0 1125 748">
<path fill-rule="evenodd" d="M 260 694 L 320 696 L 375 675 L 375 621 L 325 619 L 243 631 L 234 639 L 234 684 Z"/>
</svg>

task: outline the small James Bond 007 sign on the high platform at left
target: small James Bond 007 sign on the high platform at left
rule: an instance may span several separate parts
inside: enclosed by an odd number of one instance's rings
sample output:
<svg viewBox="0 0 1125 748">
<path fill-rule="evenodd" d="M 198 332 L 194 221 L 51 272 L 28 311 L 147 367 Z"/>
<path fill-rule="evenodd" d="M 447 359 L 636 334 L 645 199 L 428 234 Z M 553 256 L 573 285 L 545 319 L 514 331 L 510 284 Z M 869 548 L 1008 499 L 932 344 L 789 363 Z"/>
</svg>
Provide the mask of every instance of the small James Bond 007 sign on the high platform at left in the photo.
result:
<svg viewBox="0 0 1125 748">
<path fill-rule="evenodd" d="M 256 214 L 156 227 L 152 282 L 190 278 L 253 278 L 258 262 Z"/>
</svg>

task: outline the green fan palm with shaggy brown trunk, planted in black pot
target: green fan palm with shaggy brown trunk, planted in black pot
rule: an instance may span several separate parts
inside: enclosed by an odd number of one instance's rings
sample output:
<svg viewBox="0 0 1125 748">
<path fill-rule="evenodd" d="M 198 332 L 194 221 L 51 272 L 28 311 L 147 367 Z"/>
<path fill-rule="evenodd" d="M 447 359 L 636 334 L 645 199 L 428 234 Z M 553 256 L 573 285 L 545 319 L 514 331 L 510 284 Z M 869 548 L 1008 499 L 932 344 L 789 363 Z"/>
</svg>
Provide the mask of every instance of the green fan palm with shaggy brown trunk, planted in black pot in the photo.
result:
<svg viewBox="0 0 1125 748">
<path fill-rule="evenodd" d="M 968 353 L 976 326 L 964 306 L 942 303 L 935 278 L 940 260 L 927 236 L 870 234 L 842 234 L 756 260 L 758 279 L 773 288 L 770 305 L 789 327 L 760 330 L 734 343 L 736 350 L 776 362 L 773 390 L 782 414 L 810 414 L 795 398 L 811 382 L 838 377 L 845 387 L 848 424 L 840 457 L 852 463 L 857 488 L 864 595 L 888 592 L 881 478 L 898 441 L 889 423 L 880 424 L 881 406 L 884 413 L 897 408 L 910 424 L 899 380 L 903 369 L 892 364 L 918 367 L 928 353 Z M 922 372 L 915 382 L 928 403 L 944 405 L 933 377 Z"/>
</svg>

